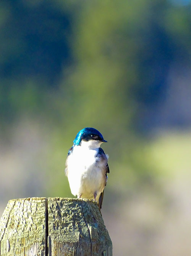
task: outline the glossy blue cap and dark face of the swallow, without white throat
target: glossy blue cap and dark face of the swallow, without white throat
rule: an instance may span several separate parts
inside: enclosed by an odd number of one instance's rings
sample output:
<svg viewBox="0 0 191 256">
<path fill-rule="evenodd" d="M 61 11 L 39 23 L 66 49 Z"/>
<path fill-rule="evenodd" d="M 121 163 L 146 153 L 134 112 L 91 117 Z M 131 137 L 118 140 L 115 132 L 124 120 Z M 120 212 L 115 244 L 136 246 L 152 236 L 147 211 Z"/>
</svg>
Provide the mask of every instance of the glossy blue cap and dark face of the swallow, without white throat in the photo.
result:
<svg viewBox="0 0 191 256">
<path fill-rule="evenodd" d="M 79 146 L 81 145 L 82 141 L 89 141 L 89 140 L 100 142 L 100 144 L 102 142 L 107 142 L 107 140 L 104 140 L 104 137 L 98 130 L 92 127 L 86 127 L 80 130 L 76 135 L 76 138 L 74 139 L 74 146 Z"/>
</svg>

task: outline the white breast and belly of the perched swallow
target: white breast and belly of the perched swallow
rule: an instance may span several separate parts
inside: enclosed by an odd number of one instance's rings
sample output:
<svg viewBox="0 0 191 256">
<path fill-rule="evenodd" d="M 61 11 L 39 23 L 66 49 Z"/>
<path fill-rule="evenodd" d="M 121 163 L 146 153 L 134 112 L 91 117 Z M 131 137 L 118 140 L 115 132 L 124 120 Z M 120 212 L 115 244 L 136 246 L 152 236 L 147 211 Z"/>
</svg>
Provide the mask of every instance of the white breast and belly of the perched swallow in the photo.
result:
<svg viewBox="0 0 191 256">
<path fill-rule="evenodd" d="M 95 155 L 98 149 L 90 150 L 74 147 L 72 154 L 68 157 L 68 181 L 71 193 L 74 196 L 92 199 L 97 193 L 96 200 L 105 187 L 105 163 L 96 162 Z"/>
</svg>

